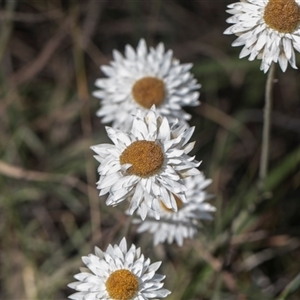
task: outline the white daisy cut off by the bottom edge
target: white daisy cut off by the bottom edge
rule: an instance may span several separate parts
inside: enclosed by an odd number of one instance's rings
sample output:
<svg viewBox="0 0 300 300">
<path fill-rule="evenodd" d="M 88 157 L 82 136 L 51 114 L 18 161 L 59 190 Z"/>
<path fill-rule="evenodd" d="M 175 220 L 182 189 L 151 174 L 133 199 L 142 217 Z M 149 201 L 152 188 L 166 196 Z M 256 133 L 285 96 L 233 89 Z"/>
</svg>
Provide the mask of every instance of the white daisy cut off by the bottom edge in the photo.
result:
<svg viewBox="0 0 300 300">
<path fill-rule="evenodd" d="M 132 245 L 127 250 L 125 238 L 120 245 L 109 245 L 106 252 L 95 247 L 95 255 L 83 256 L 87 268 L 74 276 L 78 281 L 68 286 L 78 291 L 73 300 L 147 300 L 165 298 L 163 275 L 155 274 L 161 262 L 150 264 L 141 249 Z"/>
</svg>

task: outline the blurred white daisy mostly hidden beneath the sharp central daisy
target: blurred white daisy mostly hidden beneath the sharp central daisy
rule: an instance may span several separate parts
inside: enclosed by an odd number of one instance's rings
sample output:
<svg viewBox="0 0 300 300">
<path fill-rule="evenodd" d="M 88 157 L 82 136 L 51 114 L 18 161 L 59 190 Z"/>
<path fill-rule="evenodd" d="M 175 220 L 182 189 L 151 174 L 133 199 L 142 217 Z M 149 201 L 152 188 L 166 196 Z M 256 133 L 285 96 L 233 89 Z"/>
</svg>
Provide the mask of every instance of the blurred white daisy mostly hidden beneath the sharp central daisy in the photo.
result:
<svg viewBox="0 0 300 300">
<path fill-rule="evenodd" d="M 204 191 L 210 183 L 211 179 L 205 179 L 202 174 L 184 179 L 187 188 L 187 203 L 182 203 L 175 196 L 177 212 L 168 209 L 161 203 L 160 220 L 155 220 L 151 213 L 144 222 L 134 220 L 134 223 L 141 223 L 137 232 L 149 231 L 152 233 L 155 246 L 165 241 L 169 244 L 176 241 L 179 246 L 182 246 L 185 238 L 192 239 L 198 232 L 200 220 L 212 220 L 210 212 L 216 209 L 204 202 L 212 197 Z"/>
</svg>

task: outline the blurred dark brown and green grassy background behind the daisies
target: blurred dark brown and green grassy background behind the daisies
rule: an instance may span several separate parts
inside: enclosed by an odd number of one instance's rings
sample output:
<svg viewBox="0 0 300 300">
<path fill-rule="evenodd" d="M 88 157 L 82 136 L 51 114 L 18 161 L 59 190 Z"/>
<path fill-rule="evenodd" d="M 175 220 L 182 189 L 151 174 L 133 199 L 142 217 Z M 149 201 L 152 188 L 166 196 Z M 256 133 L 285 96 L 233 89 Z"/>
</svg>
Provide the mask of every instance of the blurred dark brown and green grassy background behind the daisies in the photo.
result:
<svg viewBox="0 0 300 300">
<path fill-rule="evenodd" d="M 300 299 L 300 74 L 276 69 L 269 192 L 261 195 L 266 75 L 223 35 L 232 2 L 1 1 L 1 299 L 66 299 L 81 256 L 124 233 L 163 261 L 167 299 Z M 217 211 L 183 247 L 153 248 L 124 206 L 107 207 L 96 190 L 89 147 L 109 141 L 94 82 L 113 49 L 142 37 L 192 62 L 202 85 L 201 105 L 186 111 Z"/>
</svg>

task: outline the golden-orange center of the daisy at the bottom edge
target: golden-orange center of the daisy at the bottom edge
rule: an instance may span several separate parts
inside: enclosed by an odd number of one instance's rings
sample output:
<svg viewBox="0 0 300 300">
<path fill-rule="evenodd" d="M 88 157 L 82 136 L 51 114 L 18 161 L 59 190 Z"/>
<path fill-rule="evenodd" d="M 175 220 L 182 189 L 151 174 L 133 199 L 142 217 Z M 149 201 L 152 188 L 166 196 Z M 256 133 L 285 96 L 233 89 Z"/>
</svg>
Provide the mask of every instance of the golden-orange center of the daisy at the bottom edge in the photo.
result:
<svg viewBox="0 0 300 300">
<path fill-rule="evenodd" d="M 134 274 L 122 269 L 109 275 L 105 287 L 110 299 L 129 300 L 138 291 L 139 282 Z"/>
</svg>

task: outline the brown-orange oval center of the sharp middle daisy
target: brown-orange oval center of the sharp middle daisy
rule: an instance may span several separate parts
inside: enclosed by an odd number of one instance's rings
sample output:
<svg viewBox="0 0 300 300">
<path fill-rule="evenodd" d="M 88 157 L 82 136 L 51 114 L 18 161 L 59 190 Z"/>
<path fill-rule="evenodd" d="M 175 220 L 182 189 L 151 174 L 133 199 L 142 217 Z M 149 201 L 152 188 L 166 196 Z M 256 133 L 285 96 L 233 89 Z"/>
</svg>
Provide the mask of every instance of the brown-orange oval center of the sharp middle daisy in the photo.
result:
<svg viewBox="0 0 300 300">
<path fill-rule="evenodd" d="M 151 141 L 135 141 L 120 155 L 120 164 L 131 164 L 127 174 L 149 177 L 162 167 L 164 155 L 161 147 Z"/>
</svg>

